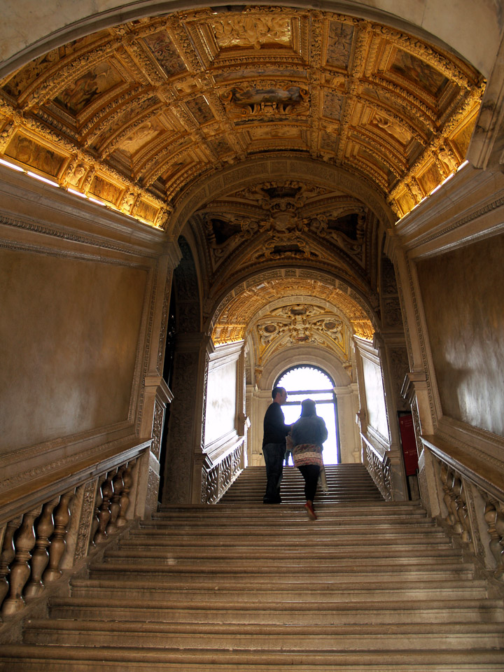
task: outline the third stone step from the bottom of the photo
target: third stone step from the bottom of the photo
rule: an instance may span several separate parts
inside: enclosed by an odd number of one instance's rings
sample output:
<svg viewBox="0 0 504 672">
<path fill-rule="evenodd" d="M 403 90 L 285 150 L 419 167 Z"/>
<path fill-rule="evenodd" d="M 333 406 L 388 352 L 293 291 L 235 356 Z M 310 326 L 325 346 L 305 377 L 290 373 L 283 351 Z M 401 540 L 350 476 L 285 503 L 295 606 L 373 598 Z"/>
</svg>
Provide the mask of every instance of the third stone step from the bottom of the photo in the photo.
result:
<svg viewBox="0 0 504 672">
<path fill-rule="evenodd" d="M 389 601 L 368 603 L 327 602 L 243 602 L 216 604 L 184 600 L 155 604 L 131 603 L 125 599 L 54 597 L 50 615 L 67 619 L 154 621 L 170 623 L 257 623 L 257 624 L 386 624 L 386 623 L 471 623 L 504 622 L 503 601 L 497 599 L 461 601 Z"/>
</svg>

